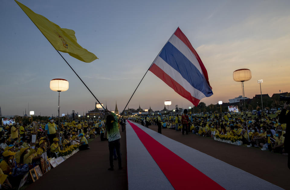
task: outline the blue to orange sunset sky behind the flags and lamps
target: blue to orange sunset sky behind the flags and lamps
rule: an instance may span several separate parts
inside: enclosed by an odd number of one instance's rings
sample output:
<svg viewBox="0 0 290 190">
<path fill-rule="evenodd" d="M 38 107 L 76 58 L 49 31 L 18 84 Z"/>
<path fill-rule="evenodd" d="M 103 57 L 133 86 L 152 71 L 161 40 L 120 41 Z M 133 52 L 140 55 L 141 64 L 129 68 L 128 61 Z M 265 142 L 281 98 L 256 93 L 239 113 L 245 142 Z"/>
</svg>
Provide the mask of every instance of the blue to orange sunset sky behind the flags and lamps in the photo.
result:
<svg viewBox="0 0 290 190">
<path fill-rule="evenodd" d="M 290 1 L 76 1 L 19 0 L 62 28 L 76 32 L 78 43 L 98 56 L 81 62 L 65 59 L 97 98 L 121 111 L 166 41 L 179 26 L 208 71 L 214 95 L 201 101 L 215 104 L 242 95 L 233 71 L 247 68 L 245 96 L 289 92 Z M 0 6 L 0 106 L 3 115 L 57 114 L 54 78 L 69 81 L 60 93 L 60 112 L 83 113 L 95 99 L 16 2 Z M 161 110 L 164 101 L 188 108 L 192 104 L 150 71 L 129 108 Z M 29 103 L 29 110 L 28 110 Z"/>
</svg>

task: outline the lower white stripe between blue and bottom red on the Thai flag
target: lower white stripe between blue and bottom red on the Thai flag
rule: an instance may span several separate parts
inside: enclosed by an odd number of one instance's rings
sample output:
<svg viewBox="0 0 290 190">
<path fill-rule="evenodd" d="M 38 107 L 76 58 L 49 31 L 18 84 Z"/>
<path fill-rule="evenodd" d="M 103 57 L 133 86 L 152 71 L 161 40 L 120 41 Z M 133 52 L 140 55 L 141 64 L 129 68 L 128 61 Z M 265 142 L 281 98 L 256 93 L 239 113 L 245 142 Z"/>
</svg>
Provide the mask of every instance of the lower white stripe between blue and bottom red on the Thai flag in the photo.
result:
<svg viewBox="0 0 290 190">
<path fill-rule="evenodd" d="M 201 91 L 199 91 L 198 89 L 195 89 L 192 85 L 190 85 L 190 83 L 187 80 L 185 80 L 178 71 L 173 69 L 161 57 L 158 56 L 154 63 L 160 69 L 162 69 L 167 75 L 169 75 L 173 80 L 175 80 L 180 85 L 182 85 L 182 87 L 186 91 L 188 91 L 193 97 L 199 100 L 206 97 Z"/>
</svg>

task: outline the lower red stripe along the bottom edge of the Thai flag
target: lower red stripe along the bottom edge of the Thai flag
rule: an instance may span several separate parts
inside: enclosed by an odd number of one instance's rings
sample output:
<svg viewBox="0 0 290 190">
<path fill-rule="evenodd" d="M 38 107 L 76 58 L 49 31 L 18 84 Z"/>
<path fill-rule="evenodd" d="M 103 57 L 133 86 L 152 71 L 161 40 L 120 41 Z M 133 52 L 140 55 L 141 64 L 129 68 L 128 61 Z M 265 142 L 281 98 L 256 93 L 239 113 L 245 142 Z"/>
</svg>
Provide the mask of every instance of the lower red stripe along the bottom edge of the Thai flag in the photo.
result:
<svg viewBox="0 0 290 190">
<path fill-rule="evenodd" d="M 153 72 L 154 75 L 156 75 L 159 79 L 163 80 L 168 86 L 170 86 L 175 92 L 177 92 L 182 97 L 188 99 L 190 102 L 192 102 L 193 105 L 198 106 L 199 99 L 193 97 L 190 92 L 185 90 L 182 85 L 180 85 L 178 82 L 176 82 L 174 79 L 172 79 L 169 75 L 167 75 L 162 69 L 160 69 L 159 66 L 157 66 L 155 63 L 152 64 L 152 66 L 149 69 L 151 72 Z"/>
</svg>

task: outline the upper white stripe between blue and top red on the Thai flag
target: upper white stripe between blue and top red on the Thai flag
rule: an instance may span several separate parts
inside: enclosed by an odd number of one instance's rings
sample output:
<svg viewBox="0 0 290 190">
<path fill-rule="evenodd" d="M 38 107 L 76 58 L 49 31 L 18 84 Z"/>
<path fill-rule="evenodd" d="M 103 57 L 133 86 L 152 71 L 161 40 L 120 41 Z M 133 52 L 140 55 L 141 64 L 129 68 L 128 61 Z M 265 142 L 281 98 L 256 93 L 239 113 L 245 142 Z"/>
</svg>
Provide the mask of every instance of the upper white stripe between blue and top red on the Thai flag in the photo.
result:
<svg viewBox="0 0 290 190">
<path fill-rule="evenodd" d="M 169 39 L 169 42 L 174 47 L 176 47 L 176 49 L 178 49 L 198 69 L 202 76 L 204 76 L 198 60 L 196 59 L 192 51 L 183 43 L 183 41 L 181 41 L 175 34 L 173 34 L 172 37 Z"/>
</svg>

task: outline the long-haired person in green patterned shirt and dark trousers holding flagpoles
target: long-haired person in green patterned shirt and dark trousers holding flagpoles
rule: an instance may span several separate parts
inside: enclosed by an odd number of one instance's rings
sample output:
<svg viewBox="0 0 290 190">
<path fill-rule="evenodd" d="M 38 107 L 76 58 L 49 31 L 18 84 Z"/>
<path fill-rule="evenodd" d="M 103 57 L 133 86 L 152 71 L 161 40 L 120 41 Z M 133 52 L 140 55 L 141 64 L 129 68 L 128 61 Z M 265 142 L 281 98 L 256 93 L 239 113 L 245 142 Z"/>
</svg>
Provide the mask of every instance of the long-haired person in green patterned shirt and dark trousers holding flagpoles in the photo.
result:
<svg viewBox="0 0 290 190">
<path fill-rule="evenodd" d="M 118 126 L 118 118 L 117 115 L 108 112 L 108 115 L 106 117 L 106 124 L 105 128 L 107 131 L 107 139 L 109 142 L 109 160 L 110 160 L 110 168 L 108 170 L 113 171 L 114 165 L 113 165 L 113 155 L 114 155 L 114 149 L 116 149 L 116 153 L 118 155 L 118 166 L 119 169 L 122 169 L 122 159 L 121 159 L 121 150 L 120 150 L 120 131 Z"/>
</svg>

